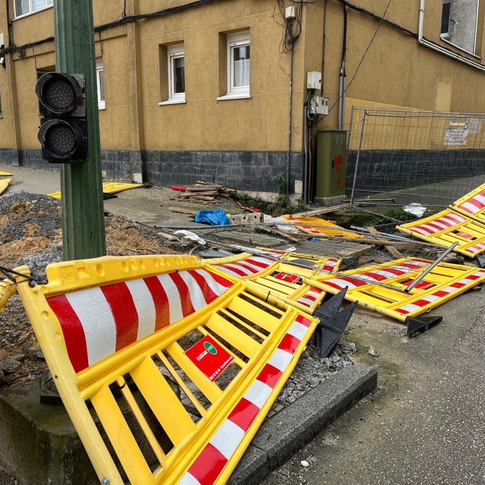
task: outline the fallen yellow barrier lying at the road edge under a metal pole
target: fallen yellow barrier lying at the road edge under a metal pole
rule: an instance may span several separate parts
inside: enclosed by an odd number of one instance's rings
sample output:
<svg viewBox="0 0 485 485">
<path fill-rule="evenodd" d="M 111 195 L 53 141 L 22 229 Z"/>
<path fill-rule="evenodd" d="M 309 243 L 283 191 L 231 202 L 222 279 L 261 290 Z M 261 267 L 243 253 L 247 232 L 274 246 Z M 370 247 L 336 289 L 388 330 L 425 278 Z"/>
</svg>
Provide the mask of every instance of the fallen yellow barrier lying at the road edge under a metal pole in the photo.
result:
<svg viewBox="0 0 485 485">
<path fill-rule="evenodd" d="M 409 293 L 404 293 L 432 263 L 417 258 L 403 258 L 383 265 L 345 271 L 345 276 L 320 276 L 309 283 L 333 294 L 348 288 L 346 300 L 406 321 L 408 317 L 426 313 L 485 281 L 484 269 L 440 263 Z"/>
</svg>

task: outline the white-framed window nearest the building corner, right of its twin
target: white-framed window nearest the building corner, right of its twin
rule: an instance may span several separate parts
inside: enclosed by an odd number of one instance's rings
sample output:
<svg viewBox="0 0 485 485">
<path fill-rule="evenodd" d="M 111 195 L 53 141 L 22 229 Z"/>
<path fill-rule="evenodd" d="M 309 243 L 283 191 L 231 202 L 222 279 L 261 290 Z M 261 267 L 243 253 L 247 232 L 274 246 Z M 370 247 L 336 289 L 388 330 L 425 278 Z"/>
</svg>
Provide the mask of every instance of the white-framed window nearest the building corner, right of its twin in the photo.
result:
<svg viewBox="0 0 485 485">
<path fill-rule="evenodd" d="M 227 36 L 227 94 L 249 94 L 249 31 Z"/>
</svg>

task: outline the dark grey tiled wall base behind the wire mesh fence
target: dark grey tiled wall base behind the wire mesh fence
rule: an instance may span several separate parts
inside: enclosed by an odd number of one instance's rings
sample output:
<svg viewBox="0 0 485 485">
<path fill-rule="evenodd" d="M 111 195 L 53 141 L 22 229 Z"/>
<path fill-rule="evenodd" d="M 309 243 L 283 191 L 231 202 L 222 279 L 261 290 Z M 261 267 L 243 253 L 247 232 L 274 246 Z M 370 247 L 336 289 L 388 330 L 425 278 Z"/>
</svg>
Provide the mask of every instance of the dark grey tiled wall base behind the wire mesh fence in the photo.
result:
<svg viewBox="0 0 485 485">
<path fill-rule="evenodd" d="M 347 155 L 347 195 L 352 191 L 356 151 Z M 363 150 L 356 188 L 398 190 L 485 174 L 485 150 Z"/>
</svg>

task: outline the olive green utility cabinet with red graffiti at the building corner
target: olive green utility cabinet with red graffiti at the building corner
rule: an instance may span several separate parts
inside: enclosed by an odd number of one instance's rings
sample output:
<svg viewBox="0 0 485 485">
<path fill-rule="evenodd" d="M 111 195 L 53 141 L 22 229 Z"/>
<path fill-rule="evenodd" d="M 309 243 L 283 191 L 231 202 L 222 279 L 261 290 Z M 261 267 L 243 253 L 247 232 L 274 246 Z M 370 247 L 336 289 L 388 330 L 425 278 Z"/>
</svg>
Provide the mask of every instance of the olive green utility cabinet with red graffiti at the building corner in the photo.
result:
<svg viewBox="0 0 485 485">
<path fill-rule="evenodd" d="M 316 196 L 345 195 L 347 130 L 318 130 Z"/>
</svg>

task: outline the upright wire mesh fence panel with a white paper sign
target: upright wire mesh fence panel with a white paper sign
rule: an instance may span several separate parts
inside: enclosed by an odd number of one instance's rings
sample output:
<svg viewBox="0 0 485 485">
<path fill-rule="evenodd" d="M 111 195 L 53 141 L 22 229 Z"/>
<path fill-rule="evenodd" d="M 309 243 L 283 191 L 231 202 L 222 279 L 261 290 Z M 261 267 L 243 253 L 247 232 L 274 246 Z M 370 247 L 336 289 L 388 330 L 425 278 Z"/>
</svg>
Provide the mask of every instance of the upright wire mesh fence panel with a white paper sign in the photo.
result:
<svg viewBox="0 0 485 485">
<path fill-rule="evenodd" d="M 353 201 L 419 203 L 435 213 L 485 182 L 485 114 L 354 108 L 352 119 Z"/>
</svg>

